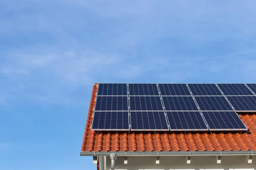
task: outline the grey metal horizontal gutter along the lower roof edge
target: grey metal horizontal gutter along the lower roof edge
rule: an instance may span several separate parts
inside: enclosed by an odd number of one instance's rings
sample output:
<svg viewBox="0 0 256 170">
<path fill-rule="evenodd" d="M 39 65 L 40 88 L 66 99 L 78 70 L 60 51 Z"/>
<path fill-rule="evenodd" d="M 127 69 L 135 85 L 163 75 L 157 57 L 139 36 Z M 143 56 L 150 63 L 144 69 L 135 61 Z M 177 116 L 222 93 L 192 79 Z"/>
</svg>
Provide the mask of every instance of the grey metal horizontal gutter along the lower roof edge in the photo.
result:
<svg viewBox="0 0 256 170">
<path fill-rule="evenodd" d="M 256 155 L 256 150 L 241 151 L 169 151 L 169 152 L 80 152 L 80 156 L 245 156 Z"/>
</svg>

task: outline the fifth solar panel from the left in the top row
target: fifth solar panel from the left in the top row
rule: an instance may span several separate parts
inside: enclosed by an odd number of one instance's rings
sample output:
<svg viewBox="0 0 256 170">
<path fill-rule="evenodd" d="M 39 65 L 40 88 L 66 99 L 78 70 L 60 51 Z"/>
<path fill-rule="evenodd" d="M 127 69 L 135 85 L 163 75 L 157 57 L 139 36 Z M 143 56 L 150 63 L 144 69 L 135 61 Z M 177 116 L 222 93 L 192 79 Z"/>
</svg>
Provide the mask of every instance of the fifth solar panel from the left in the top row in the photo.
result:
<svg viewBox="0 0 256 170">
<path fill-rule="evenodd" d="M 244 84 L 218 84 L 226 96 L 254 95 Z"/>
</svg>

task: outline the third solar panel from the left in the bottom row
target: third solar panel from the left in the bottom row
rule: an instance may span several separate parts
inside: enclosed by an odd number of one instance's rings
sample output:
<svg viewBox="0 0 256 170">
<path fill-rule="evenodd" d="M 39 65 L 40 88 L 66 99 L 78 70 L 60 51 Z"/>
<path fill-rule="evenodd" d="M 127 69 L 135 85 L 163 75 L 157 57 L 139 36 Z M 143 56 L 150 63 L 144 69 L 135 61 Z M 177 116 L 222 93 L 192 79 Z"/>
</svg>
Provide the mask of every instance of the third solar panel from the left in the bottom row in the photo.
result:
<svg viewBox="0 0 256 170">
<path fill-rule="evenodd" d="M 167 111 L 170 130 L 208 130 L 199 111 Z"/>
</svg>

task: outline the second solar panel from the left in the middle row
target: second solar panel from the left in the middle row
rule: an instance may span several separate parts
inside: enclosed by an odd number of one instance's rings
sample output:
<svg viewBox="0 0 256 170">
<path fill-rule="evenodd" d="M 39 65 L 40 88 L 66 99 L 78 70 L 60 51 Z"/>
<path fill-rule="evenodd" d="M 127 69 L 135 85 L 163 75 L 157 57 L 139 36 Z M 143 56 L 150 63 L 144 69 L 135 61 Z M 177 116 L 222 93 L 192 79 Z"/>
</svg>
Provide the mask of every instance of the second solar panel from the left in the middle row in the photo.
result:
<svg viewBox="0 0 256 170">
<path fill-rule="evenodd" d="M 130 96 L 131 111 L 163 111 L 160 96 Z"/>
</svg>

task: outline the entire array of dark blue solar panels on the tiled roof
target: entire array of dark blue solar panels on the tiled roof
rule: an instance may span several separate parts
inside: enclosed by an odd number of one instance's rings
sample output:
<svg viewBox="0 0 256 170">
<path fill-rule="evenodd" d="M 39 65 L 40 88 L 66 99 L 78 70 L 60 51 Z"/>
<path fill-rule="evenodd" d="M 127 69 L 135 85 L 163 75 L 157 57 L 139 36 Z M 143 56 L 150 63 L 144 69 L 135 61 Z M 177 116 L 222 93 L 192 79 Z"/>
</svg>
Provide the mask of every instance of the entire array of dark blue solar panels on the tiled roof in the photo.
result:
<svg viewBox="0 0 256 170">
<path fill-rule="evenodd" d="M 256 84 L 100 83 L 92 130 L 247 130 Z"/>
</svg>

